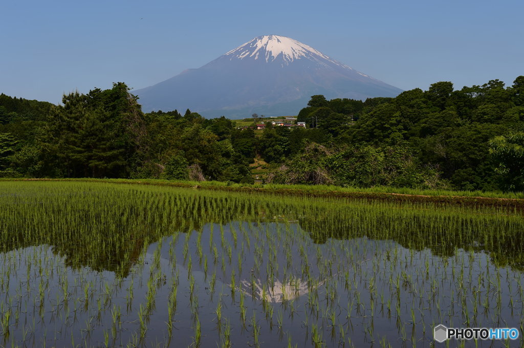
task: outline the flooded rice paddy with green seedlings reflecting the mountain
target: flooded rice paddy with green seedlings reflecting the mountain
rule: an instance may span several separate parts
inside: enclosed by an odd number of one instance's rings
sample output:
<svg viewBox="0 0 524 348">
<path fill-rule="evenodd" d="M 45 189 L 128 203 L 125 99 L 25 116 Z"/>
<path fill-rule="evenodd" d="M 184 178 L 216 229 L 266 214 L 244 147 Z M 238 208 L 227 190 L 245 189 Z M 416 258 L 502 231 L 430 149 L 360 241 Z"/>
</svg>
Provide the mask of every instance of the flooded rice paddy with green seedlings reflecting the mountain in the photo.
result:
<svg viewBox="0 0 524 348">
<path fill-rule="evenodd" d="M 520 210 L 0 182 L 0 346 L 514 347 Z"/>
</svg>

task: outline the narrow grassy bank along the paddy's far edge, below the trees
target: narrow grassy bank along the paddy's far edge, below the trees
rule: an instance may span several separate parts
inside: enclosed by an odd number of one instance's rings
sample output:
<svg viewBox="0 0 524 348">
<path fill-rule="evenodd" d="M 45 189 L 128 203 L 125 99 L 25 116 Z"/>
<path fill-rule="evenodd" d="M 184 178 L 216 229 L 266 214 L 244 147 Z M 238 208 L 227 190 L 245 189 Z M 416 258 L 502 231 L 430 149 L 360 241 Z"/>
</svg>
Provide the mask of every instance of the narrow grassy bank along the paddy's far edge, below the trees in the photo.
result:
<svg viewBox="0 0 524 348">
<path fill-rule="evenodd" d="M 80 181 L 107 182 L 117 184 L 145 184 L 194 189 L 223 190 L 232 192 L 264 192 L 279 195 L 305 195 L 311 197 L 342 197 L 355 199 L 377 199 L 386 201 L 410 201 L 456 205 L 483 205 L 524 208 L 523 192 L 482 192 L 451 190 L 419 190 L 396 187 L 340 187 L 331 185 L 275 185 L 275 184 L 234 184 L 217 181 L 169 181 L 159 179 L 2 179 L 2 181 Z"/>
</svg>

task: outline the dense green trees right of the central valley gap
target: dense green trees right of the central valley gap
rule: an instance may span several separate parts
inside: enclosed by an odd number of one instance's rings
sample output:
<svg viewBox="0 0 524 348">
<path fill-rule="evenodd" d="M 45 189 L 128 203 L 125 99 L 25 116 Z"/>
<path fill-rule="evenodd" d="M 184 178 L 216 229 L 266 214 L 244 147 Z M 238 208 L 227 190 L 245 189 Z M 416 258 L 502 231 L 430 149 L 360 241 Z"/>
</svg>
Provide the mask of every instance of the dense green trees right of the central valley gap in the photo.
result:
<svg viewBox="0 0 524 348">
<path fill-rule="evenodd" d="M 288 161 L 277 173 L 288 181 L 302 164 L 337 184 L 524 189 L 524 76 L 510 87 L 439 82 L 365 102 L 313 96 L 299 119 L 331 139 L 322 155 Z"/>
</svg>

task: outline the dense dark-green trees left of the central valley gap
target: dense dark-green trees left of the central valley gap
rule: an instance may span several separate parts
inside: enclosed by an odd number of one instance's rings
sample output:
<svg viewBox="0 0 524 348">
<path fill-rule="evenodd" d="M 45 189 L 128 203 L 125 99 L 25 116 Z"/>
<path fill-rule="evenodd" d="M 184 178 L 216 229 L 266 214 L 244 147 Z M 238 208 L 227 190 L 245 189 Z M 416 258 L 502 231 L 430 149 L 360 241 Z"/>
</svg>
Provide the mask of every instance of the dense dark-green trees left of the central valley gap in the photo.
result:
<svg viewBox="0 0 524 348">
<path fill-rule="evenodd" d="M 253 155 L 233 147 L 231 120 L 144 114 L 124 83 L 64 95 L 60 106 L 4 95 L 0 102 L 9 115 L 0 125 L 1 176 L 253 181 Z"/>
</svg>

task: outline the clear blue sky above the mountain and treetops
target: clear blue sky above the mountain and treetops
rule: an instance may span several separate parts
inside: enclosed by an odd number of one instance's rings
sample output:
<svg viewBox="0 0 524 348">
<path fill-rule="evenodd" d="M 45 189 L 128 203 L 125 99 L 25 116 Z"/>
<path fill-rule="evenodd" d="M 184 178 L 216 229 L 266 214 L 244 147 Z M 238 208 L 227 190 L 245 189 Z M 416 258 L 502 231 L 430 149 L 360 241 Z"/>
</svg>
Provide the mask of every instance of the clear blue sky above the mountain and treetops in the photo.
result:
<svg viewBox="0 0 524 348">
<path fill-rule="evenodd" d="M 521 1 L 24 1 L 0 9 L 0 93 L 147 87 L 267 34 L 402 89 L 524 75 Z"/>
</svg>

